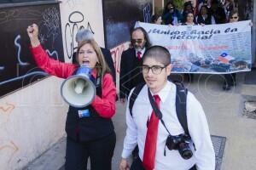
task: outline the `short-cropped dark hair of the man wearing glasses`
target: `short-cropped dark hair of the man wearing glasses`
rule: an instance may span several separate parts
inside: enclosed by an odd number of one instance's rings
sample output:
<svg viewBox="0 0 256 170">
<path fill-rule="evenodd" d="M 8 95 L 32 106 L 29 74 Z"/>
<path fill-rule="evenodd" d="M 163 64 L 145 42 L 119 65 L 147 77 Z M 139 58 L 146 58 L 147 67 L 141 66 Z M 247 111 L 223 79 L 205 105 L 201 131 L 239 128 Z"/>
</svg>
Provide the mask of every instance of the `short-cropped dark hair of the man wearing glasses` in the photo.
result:
<svg viewBox="0 0 256 170">
<path fill-rule="evenodd" d="M 169 53 L 168 49 L 163 46 L 154 45 L 147 48 L 143 54 L 143 62 L 148 58 L 154 58 L 163 65 L 171 64 L 171 54 Z"/>
</svg>

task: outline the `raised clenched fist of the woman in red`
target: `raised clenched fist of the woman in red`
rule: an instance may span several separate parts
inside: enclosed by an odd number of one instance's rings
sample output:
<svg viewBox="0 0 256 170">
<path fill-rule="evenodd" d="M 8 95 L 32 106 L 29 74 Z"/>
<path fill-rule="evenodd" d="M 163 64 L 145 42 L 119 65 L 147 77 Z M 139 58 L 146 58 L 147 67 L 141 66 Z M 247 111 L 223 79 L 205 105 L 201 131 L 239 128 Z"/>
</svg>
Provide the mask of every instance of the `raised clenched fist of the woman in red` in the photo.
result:
<svg viewBox="0 0 256 170">
<path fill-rule="evenodd" d="M 27 26 L 27 35 L 30 38 L 30 42 L 32 48 L 38 47 L 40 45 L 40 41 L 38 39 L 38 26 L 36 24 L 32 24 L 32 26 Z"/>
</svg>

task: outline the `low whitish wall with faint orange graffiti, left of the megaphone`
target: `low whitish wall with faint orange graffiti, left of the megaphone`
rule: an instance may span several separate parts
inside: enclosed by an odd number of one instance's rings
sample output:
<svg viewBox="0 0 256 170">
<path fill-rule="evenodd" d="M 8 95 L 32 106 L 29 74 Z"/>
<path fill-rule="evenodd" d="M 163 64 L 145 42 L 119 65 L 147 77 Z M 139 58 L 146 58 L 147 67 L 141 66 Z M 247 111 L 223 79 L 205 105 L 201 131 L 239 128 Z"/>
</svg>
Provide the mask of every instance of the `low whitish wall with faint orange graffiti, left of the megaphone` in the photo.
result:
<svg viewBox="0 0 256 170">
<path fill-rule="evenodd" d="M 0 169 L 21 169 L 64 135 L 62 80 L 48 77 L 0 99 Z"/>
</svg>

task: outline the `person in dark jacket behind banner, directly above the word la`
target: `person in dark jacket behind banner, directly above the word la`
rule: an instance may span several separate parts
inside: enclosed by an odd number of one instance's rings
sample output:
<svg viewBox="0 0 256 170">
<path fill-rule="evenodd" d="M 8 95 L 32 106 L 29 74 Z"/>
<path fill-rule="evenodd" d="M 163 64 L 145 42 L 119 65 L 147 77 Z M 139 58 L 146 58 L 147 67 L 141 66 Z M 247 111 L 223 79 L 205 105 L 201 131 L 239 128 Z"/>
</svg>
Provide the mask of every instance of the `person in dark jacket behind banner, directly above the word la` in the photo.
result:
<svg viewBox="0 0 256 170">
<path fill-rule="evenodd" d="M 199 14 L 196 17 L 196 22 L 203 25 L 215 24 L 214 17 L 208 12 L 207 6 L 201 6 Z"/>
</svg>

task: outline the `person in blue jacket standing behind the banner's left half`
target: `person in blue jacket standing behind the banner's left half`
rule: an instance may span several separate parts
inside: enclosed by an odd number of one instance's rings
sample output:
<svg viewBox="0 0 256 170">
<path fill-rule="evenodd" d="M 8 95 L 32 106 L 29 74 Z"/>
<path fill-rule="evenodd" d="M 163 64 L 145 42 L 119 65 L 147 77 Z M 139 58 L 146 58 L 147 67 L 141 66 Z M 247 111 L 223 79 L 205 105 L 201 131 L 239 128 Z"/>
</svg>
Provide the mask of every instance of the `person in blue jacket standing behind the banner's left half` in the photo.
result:
<svg viewBox="0 0 256 170">
<path fill-rule="evenodd" d="M 177 8 L 175 8 L 174 3 L 166 3 L 166 7 L 162 14 L 162 20 L 165 25 L 177 26 L 182 20 L 182 15 L 179 13 Z"/>
</svg>

